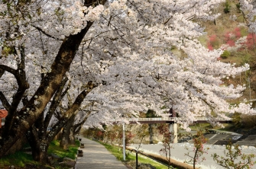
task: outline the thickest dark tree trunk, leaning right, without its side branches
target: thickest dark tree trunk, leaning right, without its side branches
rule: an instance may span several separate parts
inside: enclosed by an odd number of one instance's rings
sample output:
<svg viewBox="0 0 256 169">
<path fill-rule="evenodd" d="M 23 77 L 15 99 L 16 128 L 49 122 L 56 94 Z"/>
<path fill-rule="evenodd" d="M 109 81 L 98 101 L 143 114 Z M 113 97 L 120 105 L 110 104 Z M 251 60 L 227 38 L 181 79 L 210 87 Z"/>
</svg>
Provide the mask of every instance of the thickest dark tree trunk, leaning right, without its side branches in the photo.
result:
<svg viewBox="0 0 256 169">
<path fill-rule="evenodd" d="M 93 2 L 93 0 L 91 1 Z M 102 2 L 105 3 L 105 0 Z M 19 115 L 18 117 L 22 118 L 15 118 L 10 125 L 4 127 L 4 133 L 2 139 L 0 139 L 0 158 L 2 158 L 11 146 L 28 131 L 41 113 L 44 112 L 44 108 L 47 106 L 50 98 L 53 97 L 55 91 L 60 87 L 61 81 L 66 74 L 66 71 L 70 68 L 83 37 L 86 35 L 92 24 L 92 22 L 88 21 L 83 30 L 77 34 L 70 35 L 63 40 L 58 54 L 50 67 L 52 71 L 47 73 L 44 81 L 41 82 L 41 85 L 37 88 L 37 91 L 34 93 L 34 96 L 31 97 L 31 100 L 28 101 L 28 104 L 16 113 Z M 34 104 L 35 102 L 40 104 Z M 8 118 L 14 118 L 11 114 L 8 116 L 10 116 Z"/>
</svg>

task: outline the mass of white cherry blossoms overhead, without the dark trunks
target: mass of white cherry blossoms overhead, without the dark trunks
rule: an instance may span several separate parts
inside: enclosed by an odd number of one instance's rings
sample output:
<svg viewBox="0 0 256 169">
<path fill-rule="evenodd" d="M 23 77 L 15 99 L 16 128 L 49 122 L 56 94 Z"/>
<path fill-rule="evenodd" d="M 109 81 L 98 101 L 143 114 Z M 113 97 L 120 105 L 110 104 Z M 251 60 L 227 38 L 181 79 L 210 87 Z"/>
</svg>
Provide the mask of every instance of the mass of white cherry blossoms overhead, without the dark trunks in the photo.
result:
<svg viewBox="0 0 256 169">
<path fill-rule="evenodd" d="M 219 14 L 211 11 L 221 2 L 118 0 L 87 8 L 78 0 L 33 0 L 21 5 L 23 13 L 0 2 L 1 12 L 6 13 L 0 17 L 0 64 L 17 69 L 21 53 L 11 52 L 11 46 L 17 51 L 25 46 L 30 84 L 26 95 L 31 98 L 44 81 L 42 75 L 52 71 L 50 65 L 65 37 L 79 33 L 90 21 L 92 27 L 66 73 L 71 85 L 61 101 L 65 109 L 88 81 L 97 84 L 80 109 L 80 119 L 92 112 L 86 125 L 136 116 L 147 109 L 162 115 L 171 107 L 185 129 L 195 116 L 212 116 L 212 112 L 254 113 L 251 105 L 231 107 L 226 101 L 240 97 L 243 86 L 222 85 L 223 78 L 235 77 L 249 66 L 220 62 L 221 49 L 209 51 L 196 40 L 205 33 L 196 21 L 217 18 Z M 173 54 L 174 48 L 183 54 Z M 0 90 L 11 103 L 16 79 L 5 72 L 0 81 Z"/>
</svg>

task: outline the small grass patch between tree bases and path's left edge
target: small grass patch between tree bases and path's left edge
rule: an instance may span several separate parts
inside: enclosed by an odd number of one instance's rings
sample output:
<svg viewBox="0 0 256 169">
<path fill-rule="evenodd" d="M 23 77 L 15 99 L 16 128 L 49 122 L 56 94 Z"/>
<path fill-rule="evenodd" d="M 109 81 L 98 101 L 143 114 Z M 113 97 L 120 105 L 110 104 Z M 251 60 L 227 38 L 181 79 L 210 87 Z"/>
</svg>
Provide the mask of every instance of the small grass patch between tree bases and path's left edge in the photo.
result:
<svg viewBox="0 0 256 169">
<path fill-rule="evenodd" d="M 75 145 L 70 145 L 68 149 L 64 150 L 63 148 L 60 148 L 60 140 L 54 140 L 49 145 L 48 154 L 53 153 L 58 155 L 60 158 L 75 159 L 79 145 L 79 141 L 76 140 Z"/>
</svg>

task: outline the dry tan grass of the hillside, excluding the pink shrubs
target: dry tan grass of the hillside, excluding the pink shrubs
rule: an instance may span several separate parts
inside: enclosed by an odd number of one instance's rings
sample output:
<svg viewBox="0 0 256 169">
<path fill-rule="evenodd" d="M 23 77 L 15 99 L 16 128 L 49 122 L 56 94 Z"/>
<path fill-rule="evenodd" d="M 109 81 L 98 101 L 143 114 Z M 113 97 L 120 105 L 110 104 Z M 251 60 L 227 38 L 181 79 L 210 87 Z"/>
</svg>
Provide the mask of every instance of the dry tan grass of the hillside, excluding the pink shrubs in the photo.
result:
<svg viewBox="0 0 256 169">
<path fill-rule="evenodd" d="M 228 1 L 228 5 L 230 5 L 230 12 L 225 14 L 224 8 L 225 3 L 219 6 L 219 8 L 215 8 L 215 13 L 221 13 L 221 16 L 216 20 L 216 24 L 214 24 L 213 21 L 207 21 L 202 22 L 202 26 L 206 27 L 207 34 L 203 37 L 199 37 L 199 41 L 204 45 L 208 46 L 209 39 L 212 36 L 215 36 L 216 39 L 213 42 L 214 49 L 218 49 L 222 44 L 227 43 L 225 41 L 225 36 L 227 33 L 234 33 L 235 28 L 239 27 L 241 37 L 248 35 L 248 27 L 241 27 L 242 24 L 245 25 L 245 19 L 243 18 L 241 12 L 238 11 L 237 5 L 238 0 L 230 0 Z M 237 20 L 232 21 L 230 19 L 230 16 L 236 15 Z M 239 26 L 240 25 L 240 26 Z M 244 65 L 245 63 L 248 63 L 253 67 L 255 65 L 254 60 L 256 60 L 256 56 L 254 53 L 254 49 L 240 49 L 238 51 L 232 52 L 231 56 L 228 56 L 227 59 L 221 59 L 222 62 L 229 62 L 229 63 L 235 63 L 236 65 Z M 249 82 L 248 78 L 251 78 L 251 91 L 249 88 Z M 245 72 L 240 76 L 237 76 L 235 78 L 229 78 L 229 79 L 223 79 L 225 82 L 224 85 L 246 85 L 245 92 L 243 96 L 236 100 L 230 100 L 231 103 L 238 103 L 245 98 L 247 100 L 250 99 L 250 92 L 251 92 L 251 99 L 255 99 L 255 89 L 256 89 L 256 83 L 254 84 L 254 79 L 256 80 L 256 71 L 254 69 L 251 69 L 249 72 Z"/>
</svg>

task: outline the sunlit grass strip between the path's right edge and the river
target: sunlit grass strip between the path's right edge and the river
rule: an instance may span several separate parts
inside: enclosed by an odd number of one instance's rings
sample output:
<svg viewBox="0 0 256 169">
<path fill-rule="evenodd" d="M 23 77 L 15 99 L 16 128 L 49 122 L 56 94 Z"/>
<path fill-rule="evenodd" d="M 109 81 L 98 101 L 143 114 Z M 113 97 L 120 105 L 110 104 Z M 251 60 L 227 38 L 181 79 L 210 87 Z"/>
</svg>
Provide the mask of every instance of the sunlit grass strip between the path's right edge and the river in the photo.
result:
<svg viewBox="0 0 256 169">
<path fill-rule="evenodd" d="M 115 157 L 118 159 L 118 161 L 123 160 L 122 156 L 122 148 L 119 148 L 118 146 L 115 145 L 108 145 L 105 143 L 100 142 L 102 145 L 107 148 L 112 155 L 115 155 Z M 130 161 L 130 163 L 133 163 L 136 161 L 136 156 L 134 153 L 131 153 L 130 151 L 126 151 L 126 160 Z M 151 164 L 152 166 L 156 167 L 157 169 L 166 169 L 167 166 L 160 164 L 156 161 L 151 160 L 150 158 L 146 158 L 144 156 L 138 155 L 138 162 L 139 163 L 144 163 L 144 164 Z"/>
</svg>

